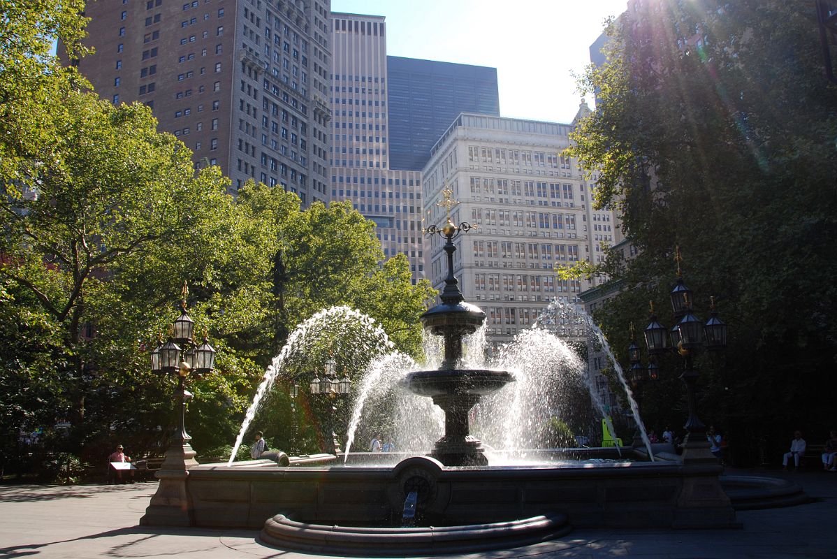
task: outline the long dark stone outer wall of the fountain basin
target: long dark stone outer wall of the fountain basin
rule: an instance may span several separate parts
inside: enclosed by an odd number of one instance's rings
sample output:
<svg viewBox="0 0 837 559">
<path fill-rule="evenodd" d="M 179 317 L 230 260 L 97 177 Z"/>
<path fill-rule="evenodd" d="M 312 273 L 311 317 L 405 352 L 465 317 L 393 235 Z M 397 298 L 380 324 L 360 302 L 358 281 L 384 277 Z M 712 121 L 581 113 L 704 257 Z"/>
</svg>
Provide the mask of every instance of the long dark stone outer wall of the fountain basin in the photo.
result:
<svg viewBox="0 0 837 559">
<path fill-rule="evenodd" d="M 206 527 L 260 529 L 275 515 L 318 525 L 400 526 L 409 490 L 419 492 L 419 526 L 555 514 L 586 528 L 737 526 L 720 472 L 714 464 L 658 462 L 450 468 L 413 457 L 394 467 L 281 468 L 265 461 L 198 465 L 189 470 L 187 493 L 194 526 Z"/>
</svg>

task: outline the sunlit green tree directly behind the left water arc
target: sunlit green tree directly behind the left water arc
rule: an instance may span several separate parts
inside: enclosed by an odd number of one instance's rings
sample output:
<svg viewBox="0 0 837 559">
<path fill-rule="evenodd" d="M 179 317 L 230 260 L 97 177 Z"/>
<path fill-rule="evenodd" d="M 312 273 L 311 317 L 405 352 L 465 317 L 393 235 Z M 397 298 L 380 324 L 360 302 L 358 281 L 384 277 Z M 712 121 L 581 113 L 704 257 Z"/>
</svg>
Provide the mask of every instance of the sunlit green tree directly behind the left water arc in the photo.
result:
<svg viewBox="0 0 837 559">
<path fill-rule="evenodd" d="M 270 270 L 256 280 L 267 315 L 254 328 L 263 345 L 270 340 L 278 353 L 290 331 L 319 310 L 347 305 L 379 321 L 401 351 L 419 356 L 419 315 L 434 297 L 427 280 L 412 285 L 403 255 L 383 262 L 374 223 L 351 203 L 314 203 L 300 210 L 294 194 L 249 183 L 239 204 L 251 218 L 265 223 L 274 238 L 263 250 L 271 254 Z M 264 331 L 264 326 L 269 326 Z"/>
</svg>

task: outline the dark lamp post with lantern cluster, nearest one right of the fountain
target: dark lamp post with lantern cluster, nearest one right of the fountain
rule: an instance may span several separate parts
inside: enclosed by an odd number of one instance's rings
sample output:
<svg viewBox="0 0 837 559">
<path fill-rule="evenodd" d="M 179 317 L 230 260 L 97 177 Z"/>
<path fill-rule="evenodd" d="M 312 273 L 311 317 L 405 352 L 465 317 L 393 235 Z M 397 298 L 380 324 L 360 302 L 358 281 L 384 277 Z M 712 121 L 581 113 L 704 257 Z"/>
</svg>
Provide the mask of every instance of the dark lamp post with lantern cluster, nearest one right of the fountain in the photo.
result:
<svg viewBox="0 0 837 559">
<path fill-rule="evenodd" d="M 654 304 L 651 303 L 650 323 L 645 327 L 645 344 L 652 356 L 665 353 L 668 348 L 676 349 L 683 357 L 684 367 L 680 380 L 686 384 L 686 397 L 689 405 L 689 418 L 686 420 L 686 440 L 683 447 L 683 463 L 716 462 L 709 452 L 706 440 L 706 425 L 697 415 L 696 383 L 700 373 L 694 367 L 694 356 L 697 351 L 706 349 L 718 351 L 727 346 L 727 325 L 718 318 L 715 310 L 715 297 L 711 297 L 711 316 L 706 323 L 696 317 L 692 309 L 691 290 L 683 283 L 680 271 L 680 249 L 676 249 L 677 283 L 669 296 L 674 310 L 675 327 L 670 331 L 657 321 Z M 676 331 L 676 337 L 672 334 Z M 670 334 L 666 341 L 666 332 Z"/>
</svg>

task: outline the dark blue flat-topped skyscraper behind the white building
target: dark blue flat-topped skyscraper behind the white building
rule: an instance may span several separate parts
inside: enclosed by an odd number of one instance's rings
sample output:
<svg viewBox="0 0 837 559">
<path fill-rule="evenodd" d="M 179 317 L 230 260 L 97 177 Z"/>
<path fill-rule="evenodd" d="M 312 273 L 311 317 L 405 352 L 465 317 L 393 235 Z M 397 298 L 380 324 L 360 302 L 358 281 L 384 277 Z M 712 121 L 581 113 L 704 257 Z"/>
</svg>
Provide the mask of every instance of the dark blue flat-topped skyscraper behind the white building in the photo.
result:
<svg viewBox="0 0 837 559">
<path fill-rule="evenodd" d="M 387 65 L 393 169 L 424 168 L 456 115 L 500 115 L 496 68 L 400 56 L 388 56 Z"/>
</svg>

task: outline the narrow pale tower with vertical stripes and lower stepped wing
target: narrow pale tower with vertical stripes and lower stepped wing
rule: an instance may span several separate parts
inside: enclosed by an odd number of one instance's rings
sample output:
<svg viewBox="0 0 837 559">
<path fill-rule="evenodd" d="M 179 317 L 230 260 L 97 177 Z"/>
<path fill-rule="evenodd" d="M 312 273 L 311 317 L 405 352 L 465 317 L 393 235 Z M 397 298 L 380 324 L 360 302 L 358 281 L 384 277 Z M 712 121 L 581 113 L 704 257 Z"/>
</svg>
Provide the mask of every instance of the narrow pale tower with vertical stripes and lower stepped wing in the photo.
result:
<svg viewBox="0 0 837 559">
<path fill-rule="evenodd" d="M 387 257 L 406 254 L 424 277 L 421 173 L 388 161 L 386 23 L 380 16 L 331 16 L 331 199 L 351 200 L 377 223 Z"/>
</svg>

